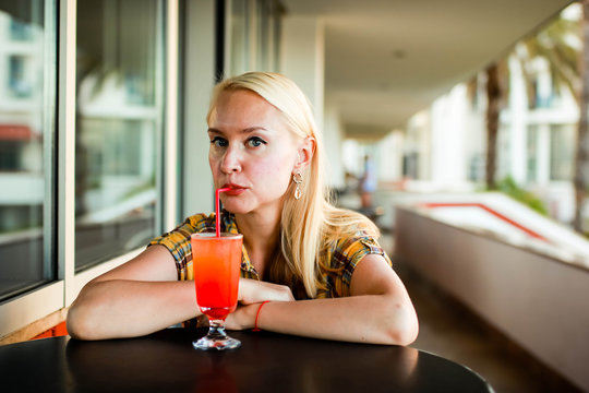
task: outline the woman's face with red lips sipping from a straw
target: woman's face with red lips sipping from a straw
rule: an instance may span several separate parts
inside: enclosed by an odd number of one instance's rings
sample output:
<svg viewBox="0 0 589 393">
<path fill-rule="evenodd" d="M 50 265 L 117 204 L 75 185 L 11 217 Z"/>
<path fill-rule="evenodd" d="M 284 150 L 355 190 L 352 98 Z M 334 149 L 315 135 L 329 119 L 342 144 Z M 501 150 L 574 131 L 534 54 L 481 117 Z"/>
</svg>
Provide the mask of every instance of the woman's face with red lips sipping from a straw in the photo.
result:
<svg viewBox="0 0 589 393">
<path fill-rule="evenodd" d="M 298 159 L 297 139 L 278 109 L 257 94 L 220 94 L 209 117 L 208 163 L 225 209 L 236 214 L 280 209 Z"/>
</svg>

